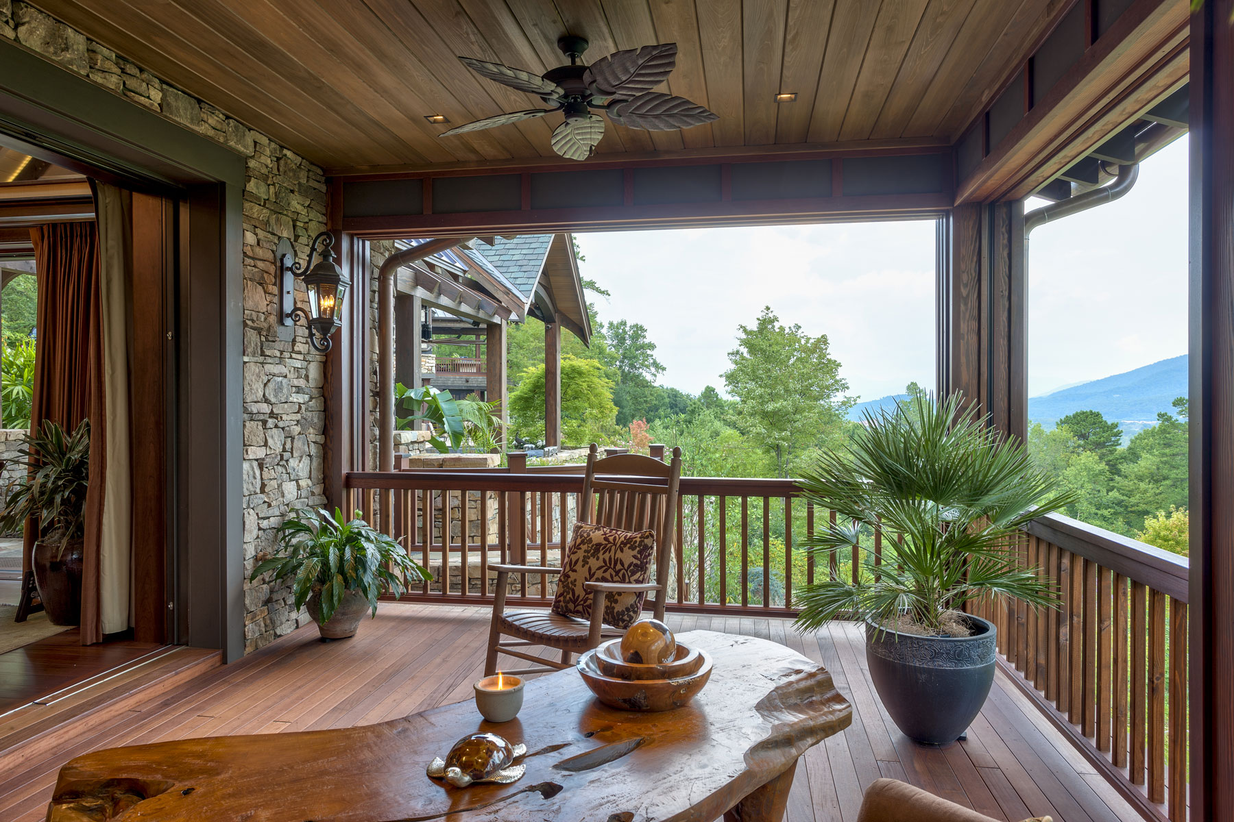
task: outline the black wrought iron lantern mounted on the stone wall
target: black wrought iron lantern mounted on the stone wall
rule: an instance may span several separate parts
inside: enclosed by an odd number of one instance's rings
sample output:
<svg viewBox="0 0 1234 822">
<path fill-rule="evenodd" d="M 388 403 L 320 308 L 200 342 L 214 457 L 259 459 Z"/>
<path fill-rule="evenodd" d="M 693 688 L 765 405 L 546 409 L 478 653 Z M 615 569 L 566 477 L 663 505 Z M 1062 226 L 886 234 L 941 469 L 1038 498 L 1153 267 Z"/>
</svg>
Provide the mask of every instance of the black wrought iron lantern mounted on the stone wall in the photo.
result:
<svg viewBox="0 0 1234 822">
<path fill-rule="evenodd" d="M 343 297 L 352 281 L 334 262 L 334 238 L 329 232 L 322 232 L 312 238 L 308 246 L 308 259 L 304 265 L 295 262 L 296 251 L 291 240 L 283 238 L 274 249 L 274 261 L 280 277 L 279 322 L 281 325 L 295 325 L 297 319 L 308 327 L 308 344 L 315 351 L 326 352 L 331 349 L 329 335 L 343 323 L 339 319 L 343 311 Z M 320 259 L 313 264 L 313 256 Z M 295 282 L 304 280 L 308 292 L 308 309 L 296 306 Z M 290 332 L 289 332 L 290 333 Z"/>
</svg>

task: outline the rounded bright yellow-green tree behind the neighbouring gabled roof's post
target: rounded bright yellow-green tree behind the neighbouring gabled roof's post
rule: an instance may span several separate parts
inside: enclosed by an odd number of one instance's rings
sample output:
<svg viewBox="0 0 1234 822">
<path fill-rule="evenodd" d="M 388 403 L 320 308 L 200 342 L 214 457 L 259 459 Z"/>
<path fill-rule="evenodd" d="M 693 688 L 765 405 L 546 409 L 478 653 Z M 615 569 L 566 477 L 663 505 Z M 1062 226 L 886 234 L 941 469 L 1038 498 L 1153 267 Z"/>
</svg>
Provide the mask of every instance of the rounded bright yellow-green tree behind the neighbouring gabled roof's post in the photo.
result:
<svg viewBox="0 0 1234 822">
<path fill-rule="evenodd" d="M 561 356 L 561 437 L 565 444 L 610 441 L 618 434 L 612 401 L 613 383 L 596 360 Z M 510 417 L 516 436 L 544 437 L 544 364 L 522 373 L 510 394 Z"/>
</svg>

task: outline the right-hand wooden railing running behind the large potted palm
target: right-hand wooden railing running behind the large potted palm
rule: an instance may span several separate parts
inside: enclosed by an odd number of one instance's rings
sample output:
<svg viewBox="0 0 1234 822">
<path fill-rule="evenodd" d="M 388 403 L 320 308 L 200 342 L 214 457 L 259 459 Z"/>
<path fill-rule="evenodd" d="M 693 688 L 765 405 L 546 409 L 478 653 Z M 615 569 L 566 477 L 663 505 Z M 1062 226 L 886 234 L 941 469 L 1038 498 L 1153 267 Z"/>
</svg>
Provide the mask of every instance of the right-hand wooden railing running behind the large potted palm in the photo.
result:
<svg viewBox="0 0 1234 822">
<path fill-rule="evenodd" d="M 1024 567 L 1061 609 L 970 609 L 1002 664 L 1145 818 L 1187 818 L 1187 558 L 1066 516 L 1034 520 Z"/>
</svg>

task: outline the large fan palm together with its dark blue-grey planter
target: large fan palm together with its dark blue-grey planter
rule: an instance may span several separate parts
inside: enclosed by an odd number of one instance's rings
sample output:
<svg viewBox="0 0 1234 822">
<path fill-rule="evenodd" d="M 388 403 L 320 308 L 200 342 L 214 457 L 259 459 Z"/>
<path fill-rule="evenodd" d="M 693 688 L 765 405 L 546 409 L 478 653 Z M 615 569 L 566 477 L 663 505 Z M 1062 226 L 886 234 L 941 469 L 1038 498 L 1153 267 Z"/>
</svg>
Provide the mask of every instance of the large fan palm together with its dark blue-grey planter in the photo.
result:
<svg viewBox="0 0 1234 822">
<path fill-rule="evenodd" d="M 993 624 L 961 608 L 986 596 L 1056 606 L 1055 592 L 1008 546 L 1070 497 L 959 394 L 866 413 L 849 449 L 824 452 L 801 487 L 807 502 L 835 511 L 834 524 L 807 540 L 811 551 L 845 556 L 863 527 L 880 526 L 888 539 L 881 564 L 866 555 L 856 583 L 806 588 L 798 630 L 864 621 L 870 677 L 896 725 L 918 742 L 954 742 L 995 670 Z"/>
</svg>

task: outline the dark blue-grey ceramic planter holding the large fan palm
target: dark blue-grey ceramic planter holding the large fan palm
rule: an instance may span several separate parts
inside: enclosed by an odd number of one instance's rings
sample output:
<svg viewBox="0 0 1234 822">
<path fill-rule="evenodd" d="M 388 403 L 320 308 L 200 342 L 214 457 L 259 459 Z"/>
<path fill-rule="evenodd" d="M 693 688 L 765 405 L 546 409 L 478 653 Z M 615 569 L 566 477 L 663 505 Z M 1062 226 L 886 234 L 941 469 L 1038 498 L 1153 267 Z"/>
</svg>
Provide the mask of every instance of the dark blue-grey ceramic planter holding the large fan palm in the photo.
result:
<svg viewBox="0 0 1234 822">
<path fill-rule="evenodd" d="M 865 625 L 870 678 L 905 736 L 928 744 L 955 742 L 981 711 L 995 679 L 995 625 L 965 615 L 976 633 L 935 637 Z"/>
</svg>

